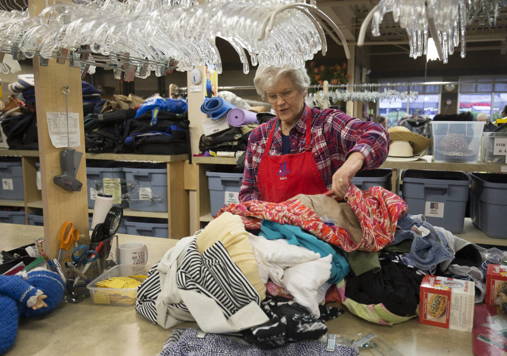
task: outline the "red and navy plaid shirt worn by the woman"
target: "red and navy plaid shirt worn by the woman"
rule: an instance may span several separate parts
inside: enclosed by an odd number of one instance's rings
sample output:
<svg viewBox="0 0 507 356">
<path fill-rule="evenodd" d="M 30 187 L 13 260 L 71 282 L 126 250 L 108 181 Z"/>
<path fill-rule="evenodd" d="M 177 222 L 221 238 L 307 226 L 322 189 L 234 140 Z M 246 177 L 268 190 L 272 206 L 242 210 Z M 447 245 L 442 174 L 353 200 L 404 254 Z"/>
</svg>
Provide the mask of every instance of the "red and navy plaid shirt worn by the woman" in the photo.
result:
<svg viewBox="0 0 507 356">
<path fill-rule="evenodd" d="M 311 115 L 311 145 L 313 158 L 322 181 L 331 189 L 333 174 L 340 168 L 353 151 L 362 153 L 366 162 L 363 169 L 379 167 L 389 152 L 389 134 L 381 124 L 361 121 L 334 109 L 310 109 L 306 104 L 303 115 L 291 129 L 291 153 L 304 151 L 307 115 Z M 266 149 L 268 135 L 278 118 L 256 127 L 248 138 L 245 170 L 239 192 L 239 201 L 258 200 L 261 194 L 257 186 L 259 163 Z M 281 128 L 275 136 L 269 150 L 270 155 L 282 154 Z M 299 192 L 294 192 L 297 195 Z"/>
</svg>

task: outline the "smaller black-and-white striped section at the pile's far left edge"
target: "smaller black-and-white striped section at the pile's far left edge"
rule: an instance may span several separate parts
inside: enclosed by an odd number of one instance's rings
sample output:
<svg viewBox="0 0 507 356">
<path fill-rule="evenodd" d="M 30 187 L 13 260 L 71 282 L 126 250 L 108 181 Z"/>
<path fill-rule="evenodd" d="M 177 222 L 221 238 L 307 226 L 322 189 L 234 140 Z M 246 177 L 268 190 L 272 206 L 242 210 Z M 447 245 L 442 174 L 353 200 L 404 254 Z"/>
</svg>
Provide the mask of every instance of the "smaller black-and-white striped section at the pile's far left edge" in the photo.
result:
<svg viewBox="0 0 507 356">
<path fill-rule="evenodd" d="M 153 324 L 157 324 L 155 301 L 161 292 L 158 271 L 159 263 L 160 261 L 148 271 L 148 278 L 137 288 L 137 300 L 135 301 L 135 311 L 146 317 Z"/>
</svg>

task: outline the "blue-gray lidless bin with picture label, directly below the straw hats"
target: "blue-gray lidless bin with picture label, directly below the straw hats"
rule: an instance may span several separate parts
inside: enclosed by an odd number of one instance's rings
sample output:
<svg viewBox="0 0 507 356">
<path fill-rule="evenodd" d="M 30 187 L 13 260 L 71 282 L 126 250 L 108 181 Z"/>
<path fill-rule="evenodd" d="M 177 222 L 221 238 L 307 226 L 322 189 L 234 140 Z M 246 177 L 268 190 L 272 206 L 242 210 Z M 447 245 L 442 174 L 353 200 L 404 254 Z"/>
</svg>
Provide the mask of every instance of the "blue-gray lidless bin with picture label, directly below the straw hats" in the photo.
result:
<svg viewBox="0 0 507 356">
<path fill-rule="evenodd" d="M 463 231 L 470 184 L 467 174 L 407 169 L 402 180 L 410 214 L 423 214 L 429 224 L 455 234 Z"/>
</svg>

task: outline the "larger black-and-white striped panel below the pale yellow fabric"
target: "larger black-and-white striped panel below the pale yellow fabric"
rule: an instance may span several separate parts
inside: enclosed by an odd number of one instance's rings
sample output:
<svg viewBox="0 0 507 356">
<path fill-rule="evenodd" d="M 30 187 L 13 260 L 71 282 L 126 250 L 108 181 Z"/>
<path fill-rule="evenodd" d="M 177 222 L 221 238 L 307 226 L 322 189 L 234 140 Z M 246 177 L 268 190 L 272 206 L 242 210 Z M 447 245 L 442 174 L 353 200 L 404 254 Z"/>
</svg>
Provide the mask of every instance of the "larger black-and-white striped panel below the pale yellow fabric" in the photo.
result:
<svg viewBox="0 0 507 356">
<path fill-rule="evenodd" d="M 212 298 L 229 318 L 252 301 L 260 305 L 261 297 L 231 260 L 222 241 L 201 254 L 194 239 L 176 272 L 179 289 L 193 290 Z"/>
</svg>

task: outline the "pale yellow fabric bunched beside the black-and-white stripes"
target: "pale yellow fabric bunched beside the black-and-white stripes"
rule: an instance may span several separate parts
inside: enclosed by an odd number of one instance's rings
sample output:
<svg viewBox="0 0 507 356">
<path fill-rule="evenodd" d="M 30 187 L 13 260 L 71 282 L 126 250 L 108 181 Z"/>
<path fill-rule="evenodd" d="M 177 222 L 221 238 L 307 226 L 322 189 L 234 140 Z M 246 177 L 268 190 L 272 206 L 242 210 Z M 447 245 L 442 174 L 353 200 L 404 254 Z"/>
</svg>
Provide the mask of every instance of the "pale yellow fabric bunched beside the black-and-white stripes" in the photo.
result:
<svg viewBox="0 0 507 356">
<path fill-rule="evenodd" d="M 222 241 L 229 256 L 231 256 L 231 260 L 238 265 L 241 272 L 259 293 L 261 300 L 264 300 L 266 298 L 266 286 L 259 275 L 253 247 L 248 240 L 248 233 L 239 215 L 224 212 L 211 221 L 197 235 L 197 250 L 202 254 L 216 241 Z"/>
</svg>

